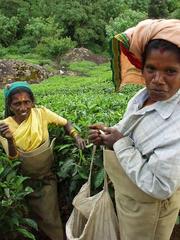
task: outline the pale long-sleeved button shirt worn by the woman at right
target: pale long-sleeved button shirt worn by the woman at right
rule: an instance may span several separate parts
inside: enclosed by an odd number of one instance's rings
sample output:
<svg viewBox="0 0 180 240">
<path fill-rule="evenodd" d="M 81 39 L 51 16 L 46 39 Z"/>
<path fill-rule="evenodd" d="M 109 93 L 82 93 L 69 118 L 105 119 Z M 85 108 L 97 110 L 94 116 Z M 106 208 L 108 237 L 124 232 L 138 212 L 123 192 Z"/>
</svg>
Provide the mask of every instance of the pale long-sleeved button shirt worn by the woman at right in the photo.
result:
<svg viewBox="0 0 180 240">
<path fill-rule="evenodd" d="M 142 108 L 147 90 L 129 102 L 116 127 L 125 137 L 113 148 L 129 178 L 144 192 L 166 199 L 180 187 L 180 93 Z"/>
</svg>

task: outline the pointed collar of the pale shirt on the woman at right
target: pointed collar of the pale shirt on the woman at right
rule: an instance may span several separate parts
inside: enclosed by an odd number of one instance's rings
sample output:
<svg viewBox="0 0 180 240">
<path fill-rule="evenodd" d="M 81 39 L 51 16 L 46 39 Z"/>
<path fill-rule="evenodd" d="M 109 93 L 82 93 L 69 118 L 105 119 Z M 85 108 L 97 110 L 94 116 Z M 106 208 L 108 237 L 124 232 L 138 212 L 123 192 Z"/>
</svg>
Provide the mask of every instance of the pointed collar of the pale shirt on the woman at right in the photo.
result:
<svg viewBox="0 0 180 240">
<path fill-rule="evenodd" d="M 175 93 L 166 101 L 158 101 L 149 106 L 143 107 L 144 101 L 147 99 L 147 89 L 142 89 L 133 100 L 134 110 L 137 115 L 144 115 L 146 112 L 157 111 L 163 119 L 167 119 L 174 112 L 178 102 L 180 102 L 180 92 Z"/>
</svg>

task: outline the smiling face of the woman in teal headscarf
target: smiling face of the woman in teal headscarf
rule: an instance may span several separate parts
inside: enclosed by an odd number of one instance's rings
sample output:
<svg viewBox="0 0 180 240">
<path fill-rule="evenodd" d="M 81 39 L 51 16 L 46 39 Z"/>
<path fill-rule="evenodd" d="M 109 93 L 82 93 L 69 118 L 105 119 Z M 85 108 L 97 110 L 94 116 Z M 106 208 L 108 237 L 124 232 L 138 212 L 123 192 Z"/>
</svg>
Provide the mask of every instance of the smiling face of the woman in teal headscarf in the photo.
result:
<svg viewBox="0 0 180 240">
<path fill-rule="evenodd" d="M 16 93 L 12 96 L 10 109 L 20 122 L 28 118 L 33 106 L 34 103 L 26 92 Z"/>
</svg>

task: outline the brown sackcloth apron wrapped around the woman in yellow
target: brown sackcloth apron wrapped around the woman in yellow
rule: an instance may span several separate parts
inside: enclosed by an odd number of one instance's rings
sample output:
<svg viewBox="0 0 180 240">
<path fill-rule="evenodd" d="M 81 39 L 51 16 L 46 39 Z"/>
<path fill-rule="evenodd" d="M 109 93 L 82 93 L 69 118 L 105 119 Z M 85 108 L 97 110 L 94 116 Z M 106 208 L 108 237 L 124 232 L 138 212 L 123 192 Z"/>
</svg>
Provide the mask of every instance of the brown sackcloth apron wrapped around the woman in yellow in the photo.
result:
<svg viewBox="0 0 180 240">
<path fill-rule="evenodd" d="M 40 189 L 28 196 L 28 204 L 39 228 L 51 240 L 63 240 L 63 226 L 57 196 L 56 176 L 51 170 L 54 162 L 53 145 L 47 140 L 40 147 L 30 152 L 19 150 L 22 164 L 21 170 L 30 177 L 30 186 L 42 183 Z"/>
</svg>

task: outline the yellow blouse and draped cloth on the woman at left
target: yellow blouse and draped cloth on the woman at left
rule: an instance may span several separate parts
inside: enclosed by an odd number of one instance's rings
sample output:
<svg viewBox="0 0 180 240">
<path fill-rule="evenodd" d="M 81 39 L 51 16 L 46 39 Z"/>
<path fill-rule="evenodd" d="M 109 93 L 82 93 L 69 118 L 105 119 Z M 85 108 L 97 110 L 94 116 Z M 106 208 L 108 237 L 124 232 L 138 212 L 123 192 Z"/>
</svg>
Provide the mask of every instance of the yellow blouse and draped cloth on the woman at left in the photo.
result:
<svg viewBox="0 0 180 240">
<path fill-rule="evenodd" d="M 51 112 L 45 107 L 32 108 L 29 117 L 20 125 L 12 117 L 8 117 L 3 121 L 9 125 L 17 148 L 25 152 L 38 148 L 49 138 L 49 123 L 59 126 L 64 126 L 67 123 L 65 118 Z M 2 138 L 0 141 L 6 151 L 7 140 Z"/>
</svg>

